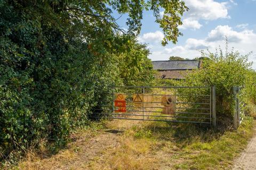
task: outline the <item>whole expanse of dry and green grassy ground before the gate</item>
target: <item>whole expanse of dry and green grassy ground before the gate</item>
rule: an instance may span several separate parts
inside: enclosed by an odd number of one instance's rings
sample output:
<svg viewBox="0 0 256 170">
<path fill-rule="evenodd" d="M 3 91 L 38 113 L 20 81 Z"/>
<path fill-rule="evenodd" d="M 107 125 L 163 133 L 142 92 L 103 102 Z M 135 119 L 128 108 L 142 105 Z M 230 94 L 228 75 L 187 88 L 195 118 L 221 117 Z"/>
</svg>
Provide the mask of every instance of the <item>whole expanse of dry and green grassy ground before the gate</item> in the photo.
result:
<svg viewBox="0 0 256 170">
<path fill-rule="evenodd" d="M 30 154 L 13 169 L 227 169 L 252 137 L 247 118 L 238 131 L 190 124 L 114 120 L 73 134 L 56 155 Z"/>
</svg>

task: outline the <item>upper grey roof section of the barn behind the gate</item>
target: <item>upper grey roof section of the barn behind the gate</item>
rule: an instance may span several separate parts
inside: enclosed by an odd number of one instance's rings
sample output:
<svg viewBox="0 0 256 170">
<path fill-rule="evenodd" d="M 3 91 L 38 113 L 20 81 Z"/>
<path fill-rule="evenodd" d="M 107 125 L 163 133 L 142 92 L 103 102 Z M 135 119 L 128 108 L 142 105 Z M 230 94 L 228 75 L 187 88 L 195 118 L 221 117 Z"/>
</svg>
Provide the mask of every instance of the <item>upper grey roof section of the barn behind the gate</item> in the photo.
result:
<svg viewBox="0 0 256 170">
<path fill-rule="evenodd" d="M 198 60 L 184 61 L 153 61 L 154 70 L 192 70 L 200 67 Z"/>
</svg>

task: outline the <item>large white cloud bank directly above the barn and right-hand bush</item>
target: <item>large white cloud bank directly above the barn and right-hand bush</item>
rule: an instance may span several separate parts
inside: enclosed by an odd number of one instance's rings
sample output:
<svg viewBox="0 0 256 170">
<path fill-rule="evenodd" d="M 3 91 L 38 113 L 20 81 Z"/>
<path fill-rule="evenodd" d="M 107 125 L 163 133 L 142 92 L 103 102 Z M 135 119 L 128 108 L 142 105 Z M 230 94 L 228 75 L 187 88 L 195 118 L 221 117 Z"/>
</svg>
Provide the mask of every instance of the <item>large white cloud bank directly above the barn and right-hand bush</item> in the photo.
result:
<svg viewBox="0 0 256 170">
<path fill-rule="evenodd" d="M 218 25 L 211 30 L 205 38 L 194 39 L 189 38 L 184 45 L 174 47 L 161 47 L 154 46 L 153 52 L 149 56 L 154 60 L 168 60 L 170 56 L 181 56 L 185 58 L 195 58 L 201 56 L 200 49 L 209 48 L 211 52 L 214 52 L 215 48 L 219 46 L 225 49 L 226 37 L 228 38 L 229 47 L 234 47 L 242 55 L 245 55 L 255 50 L 256 33 L 253 30 L 240 30 L 235 31 L 228 25 Z M 254 61 L 253 68 L 256 69 L 256 53 L 254 52 L 249 56 L 249 61 Z"/>
</svg>

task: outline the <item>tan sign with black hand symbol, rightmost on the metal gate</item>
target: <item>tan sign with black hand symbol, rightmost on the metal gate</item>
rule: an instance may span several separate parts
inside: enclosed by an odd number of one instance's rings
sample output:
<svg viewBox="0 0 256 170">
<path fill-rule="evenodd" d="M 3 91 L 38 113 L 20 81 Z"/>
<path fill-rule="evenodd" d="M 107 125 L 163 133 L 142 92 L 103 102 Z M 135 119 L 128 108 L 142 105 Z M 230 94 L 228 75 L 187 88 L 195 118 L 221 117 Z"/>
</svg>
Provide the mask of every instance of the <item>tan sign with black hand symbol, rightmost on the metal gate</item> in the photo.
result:
<svg viewBox="0 0 256 170">
<path fill-rule="evenodd" d="M 172 115 L 175 113 L 176 97 L 174 95 L 163 95 L 161 104 L 164 106 L 163 114 Z"/>
</svg>

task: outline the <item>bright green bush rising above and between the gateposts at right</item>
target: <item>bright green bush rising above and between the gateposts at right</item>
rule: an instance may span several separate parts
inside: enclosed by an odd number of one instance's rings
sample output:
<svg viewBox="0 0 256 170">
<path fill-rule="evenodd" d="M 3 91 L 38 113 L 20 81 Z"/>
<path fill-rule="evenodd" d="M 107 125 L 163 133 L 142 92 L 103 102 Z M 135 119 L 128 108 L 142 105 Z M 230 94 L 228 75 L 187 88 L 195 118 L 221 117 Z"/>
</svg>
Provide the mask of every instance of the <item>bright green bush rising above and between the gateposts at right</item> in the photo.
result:
<svg viewBox="0 0 256 170">
<path fill-rule="evenodd" d="M 215 86 L 217 97 L 217 121 L 234 114 L 233 87 L 242 87 L 242 101 L 248 103 L 255 98 L 255 71 L 248 55 L 241 55 L 234 49 L 223 52 L 221 48 L 215 53 L 202 51 L 203 64 L 201 69 L 189 74 L 184 81 L 175 82 L 182 86 Z"/>
</svg>

